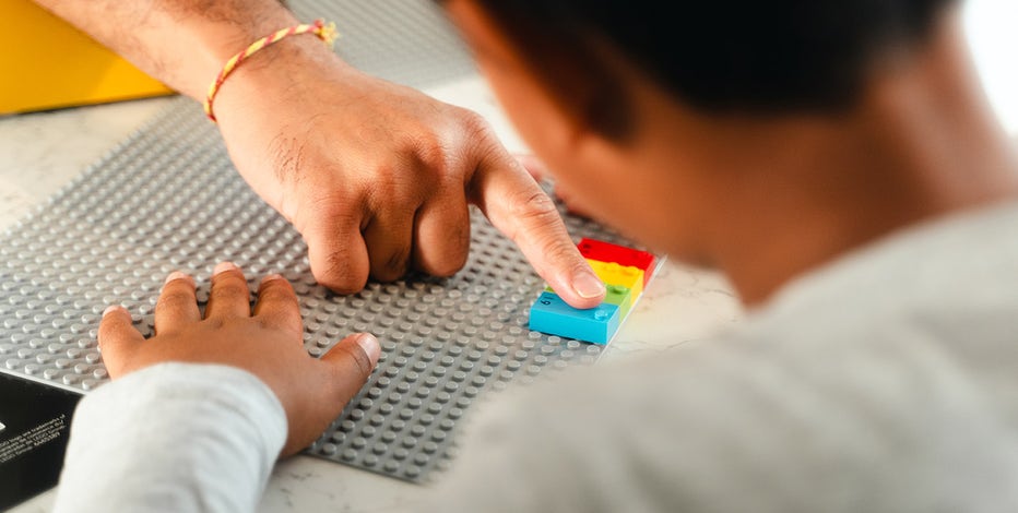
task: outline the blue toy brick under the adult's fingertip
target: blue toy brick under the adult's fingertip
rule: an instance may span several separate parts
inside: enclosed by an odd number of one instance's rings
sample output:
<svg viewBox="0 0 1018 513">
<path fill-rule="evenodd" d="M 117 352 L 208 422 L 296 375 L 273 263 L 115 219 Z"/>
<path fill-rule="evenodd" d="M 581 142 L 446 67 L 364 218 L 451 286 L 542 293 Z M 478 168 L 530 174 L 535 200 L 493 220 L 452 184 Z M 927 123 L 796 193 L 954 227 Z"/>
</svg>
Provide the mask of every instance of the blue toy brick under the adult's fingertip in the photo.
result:
<svg viewBox="0 0 1018 513">
<path fill-rule="evenodd" d="M 530 329 L 551 335 L 607 344 L 618 331 L 619 308 L 603 302 L 589 310 L 570 307 L 554 293 L 543 291 L 530 308 Z"/>
</svg>

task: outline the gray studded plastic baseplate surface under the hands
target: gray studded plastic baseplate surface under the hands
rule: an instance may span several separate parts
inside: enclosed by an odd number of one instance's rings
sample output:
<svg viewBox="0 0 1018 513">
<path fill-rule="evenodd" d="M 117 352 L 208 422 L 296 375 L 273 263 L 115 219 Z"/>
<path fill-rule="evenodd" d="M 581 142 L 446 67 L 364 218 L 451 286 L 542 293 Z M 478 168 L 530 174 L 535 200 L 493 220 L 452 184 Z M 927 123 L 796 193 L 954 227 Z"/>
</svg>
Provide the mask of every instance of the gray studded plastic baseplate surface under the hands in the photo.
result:
<svg viewBox="0 0 1018 513">
<path fill-rule="evenodd" d="M 473 72 L 429 1 L 292 5 L 308 17 L 334 9 L 347 27 L 341 23 L 344 57 L 390 80 L 423 86 Z M 370 25 L 380 20 L 389 26 Z M 399 34 L 413 36 L 375 46 Z M 391 60 L 428 41 L 437 49 L 413 65 Z M 391 59 L 371 60 L 379 53 Z M 387 67 L 399 72 L 387 74 Z M 566 219 L 577 240 L 627 243 L 594 223 Z M 300 298 L 312 356 L 353 332 L 371 332 L 382 345 L 368 383 L 306 452 L 421 481 L 448 465 L 458 422 L 486 393 L 601 354 L 526 329 L 544 282 L 475 208 L 471 222 L 470 259 L 454 276 L 372 282 L 359 294 L 334 295 L 311 276 L 301 237 L 235 171 L 215 127 L 178 98 L 0 238 L 0 371 L 87 393 L 108 381 L 96 346 L 108 305 L 128 308 L 147 336 L 174 270 L 198 278 L 200 300 L 216 262 L 237 263 L 252 286 L 280 273 Z"/>
</svg>

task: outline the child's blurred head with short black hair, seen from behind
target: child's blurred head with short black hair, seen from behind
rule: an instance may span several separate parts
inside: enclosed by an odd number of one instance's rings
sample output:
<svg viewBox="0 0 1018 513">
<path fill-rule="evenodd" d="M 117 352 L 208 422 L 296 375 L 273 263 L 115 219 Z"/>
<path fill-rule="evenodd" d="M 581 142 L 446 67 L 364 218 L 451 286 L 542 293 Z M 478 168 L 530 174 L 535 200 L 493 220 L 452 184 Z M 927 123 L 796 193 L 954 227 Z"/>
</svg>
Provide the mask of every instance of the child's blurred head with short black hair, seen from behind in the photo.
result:
<svg viewBox="0 0 1018 513">
<path fill-rule="evenodd" d="M 798 150 L 849 153 L 831 143 L 850 139 L 842 120 L 865 146 L 855 115 L 874 76 L 923 53 L 954 3 L 445 1 L 507 115 L 570 195 L 627 235 L 708 264 L 718 230 L 707 232 L 706 218 L 746 217 L 729 199 L 758 201 L 759 212 L 783 201 L 780 188 L 759 199 L 739 188 Z M 822 160 L 810 152 L 802 158 Z M 758 176 L 745 174 L 753 168 Z"/>
</svg>

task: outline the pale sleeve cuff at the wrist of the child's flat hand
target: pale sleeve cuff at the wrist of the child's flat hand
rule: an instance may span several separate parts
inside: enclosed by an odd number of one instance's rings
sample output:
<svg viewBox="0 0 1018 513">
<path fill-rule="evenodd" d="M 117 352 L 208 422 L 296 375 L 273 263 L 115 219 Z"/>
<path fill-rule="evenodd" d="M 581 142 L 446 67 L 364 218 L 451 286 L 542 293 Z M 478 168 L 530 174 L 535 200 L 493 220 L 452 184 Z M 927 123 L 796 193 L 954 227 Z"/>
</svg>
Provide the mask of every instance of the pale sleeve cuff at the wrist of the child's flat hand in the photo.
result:
<svg viewBox="0 0 1018 513">
<path fill-rule="evenodd" d="M 253 374 L 161 363 L 81 401 L 55 512 L 254 511 L 286 415 Z"/>
</svg>

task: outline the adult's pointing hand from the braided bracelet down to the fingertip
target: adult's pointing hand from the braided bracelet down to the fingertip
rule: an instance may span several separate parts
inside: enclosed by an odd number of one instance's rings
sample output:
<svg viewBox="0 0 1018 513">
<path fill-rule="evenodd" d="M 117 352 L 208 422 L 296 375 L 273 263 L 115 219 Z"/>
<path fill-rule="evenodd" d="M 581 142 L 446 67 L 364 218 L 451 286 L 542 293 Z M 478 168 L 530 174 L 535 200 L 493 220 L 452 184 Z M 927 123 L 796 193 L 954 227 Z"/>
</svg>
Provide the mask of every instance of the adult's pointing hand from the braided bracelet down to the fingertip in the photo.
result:
<svg viewBox="0 0 1018 513">
<path fill-rule="evenodd" d="M 234 164 L 304 236 L 329 288 L 455 273 L 473 203 L 567 302 L 604 297 L 554 203 L 475 112 L 365 75 L 313 37 L 246 61 L 215 112 Z"/>
</svg>

